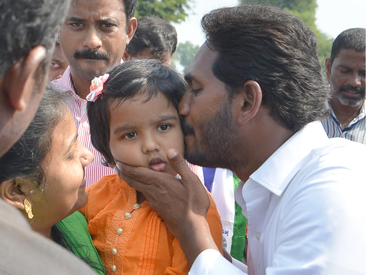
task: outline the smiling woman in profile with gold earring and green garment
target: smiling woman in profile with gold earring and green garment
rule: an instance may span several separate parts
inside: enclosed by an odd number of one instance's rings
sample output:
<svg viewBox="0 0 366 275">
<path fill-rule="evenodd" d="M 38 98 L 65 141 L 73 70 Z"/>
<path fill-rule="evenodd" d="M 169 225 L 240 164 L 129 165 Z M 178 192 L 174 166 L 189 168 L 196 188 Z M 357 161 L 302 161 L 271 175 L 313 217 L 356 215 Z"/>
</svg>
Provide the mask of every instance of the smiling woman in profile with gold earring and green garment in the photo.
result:
<svg viewBox="0 0 366 275">
<path fill-rule="evenodd" d="M 20 210 L 34 231 L 105 274 L 86 220 L 76 211 L 88 200 L 84 168 L 93 159 L 78 142 L 62 95 L 47 87 L 27 130 L 0 158 L 0 196 Z"/>
</svg>

